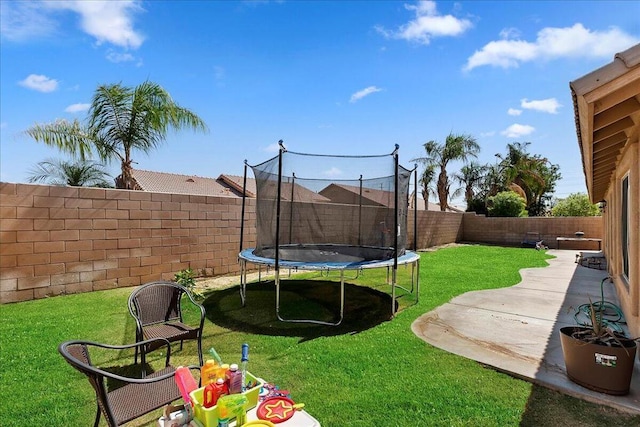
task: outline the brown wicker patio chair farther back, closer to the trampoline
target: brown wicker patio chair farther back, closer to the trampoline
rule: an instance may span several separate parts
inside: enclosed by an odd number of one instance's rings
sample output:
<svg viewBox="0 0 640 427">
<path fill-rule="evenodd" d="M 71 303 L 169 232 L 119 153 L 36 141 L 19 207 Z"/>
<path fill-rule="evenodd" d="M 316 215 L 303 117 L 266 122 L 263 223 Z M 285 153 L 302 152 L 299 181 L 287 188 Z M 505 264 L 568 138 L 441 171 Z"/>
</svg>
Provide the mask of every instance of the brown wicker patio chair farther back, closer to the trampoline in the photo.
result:
<svg viewBox="0 0 640 427">
<path fill-rule="evenodd" d="M 183 298 L 186 295 L 186 298 Z M 182 319 L 182 300 L 189 301 L 200 310 L 200 324 L 187 325 Z M 164 338 L 170 342 L 197 340 L 198 361 L 202 360 L 202 329 L 204 327 L 204 307 L 198 304 L 187 288 L 175 282 L 157 281 L 140 286 L 129 296 L 129 312 L 136 320 L 136 341 Z M 155 350 L 157 344 L 141 345 L 140 361 L 144 373 L 145 355 Z M 138 362 L 138 348 L 135 352 Z"/>
</svg>

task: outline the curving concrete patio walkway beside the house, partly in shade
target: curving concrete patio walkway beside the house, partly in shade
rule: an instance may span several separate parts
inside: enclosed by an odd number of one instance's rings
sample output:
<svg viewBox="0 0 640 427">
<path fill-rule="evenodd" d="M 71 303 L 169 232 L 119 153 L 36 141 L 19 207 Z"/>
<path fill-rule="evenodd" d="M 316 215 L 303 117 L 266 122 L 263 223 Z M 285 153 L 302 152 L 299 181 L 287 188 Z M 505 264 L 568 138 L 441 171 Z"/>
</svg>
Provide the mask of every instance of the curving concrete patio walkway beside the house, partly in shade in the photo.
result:
<svg viewBox="0 0 640 427">
<path fill-rule="evenodd" d="M 412 325 L 414 333 L 431 345 L 515 377 L 640 414 L 638 363 L 626 396 L 594 392 L 567 378 L 559 330 L 576 324 L 573 315 L 578 306 L 589 298 L 600 299 L 600 283 L 607 273 L 576 264 L 576 251 L 549 254 L 556 258 L 548 267 L 522 270 L 522 281 L 515 286 L 469 292 L 422 315 Z M 608 281 L 604 297 L 618 304 Z"/>
</svg>

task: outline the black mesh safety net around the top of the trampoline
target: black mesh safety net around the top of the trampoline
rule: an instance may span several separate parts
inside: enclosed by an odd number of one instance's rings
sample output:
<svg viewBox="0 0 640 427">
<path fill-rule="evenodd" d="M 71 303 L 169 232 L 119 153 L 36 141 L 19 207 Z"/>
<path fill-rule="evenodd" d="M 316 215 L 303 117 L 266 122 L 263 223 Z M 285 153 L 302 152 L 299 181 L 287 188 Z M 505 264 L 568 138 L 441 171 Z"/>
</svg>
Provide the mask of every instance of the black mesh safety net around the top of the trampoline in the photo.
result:
<svg viewBox="0 0 640 427">
<path fill-rule="evenodd" d="M 300 262 L 402 256 L 412 171 L 398 164 L 397 151 L 328 156 L 281 148 L 278 156 L 251 166 L 256 180 L 254 254 Z"/>
</svg>

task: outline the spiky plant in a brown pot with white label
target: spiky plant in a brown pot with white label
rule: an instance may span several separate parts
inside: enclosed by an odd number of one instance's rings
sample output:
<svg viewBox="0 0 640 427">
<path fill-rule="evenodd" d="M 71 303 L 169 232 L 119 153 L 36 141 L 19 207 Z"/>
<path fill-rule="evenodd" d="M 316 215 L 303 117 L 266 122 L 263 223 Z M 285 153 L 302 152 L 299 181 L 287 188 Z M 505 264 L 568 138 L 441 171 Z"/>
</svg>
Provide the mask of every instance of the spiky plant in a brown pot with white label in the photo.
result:
<svg viewBox="0 0 640 427">
<path fill-rule="evenodd" d="M 590 390 L 624 395 L 629 393 L 637 343 L 603 325 L 602 306 L 589 303 L 590 327 L 560 329 L 567 376 Z"/>
</svg>

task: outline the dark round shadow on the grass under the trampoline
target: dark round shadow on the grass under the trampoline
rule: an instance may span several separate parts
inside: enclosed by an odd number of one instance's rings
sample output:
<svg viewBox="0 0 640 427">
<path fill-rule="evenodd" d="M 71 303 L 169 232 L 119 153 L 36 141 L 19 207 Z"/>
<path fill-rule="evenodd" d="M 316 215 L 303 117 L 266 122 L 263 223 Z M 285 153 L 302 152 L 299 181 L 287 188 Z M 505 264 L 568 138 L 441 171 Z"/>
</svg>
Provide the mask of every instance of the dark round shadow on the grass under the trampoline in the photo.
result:
<svg viewBox="0 0 640 427">
<path fill-rule="evenodd" d="M 234 331 L 301 337 L 302 341 L 323 336 L 354 334 L 391 318 L 391 296 L 366 286 L 345 283 L 344 317 L 338 326 L 279 321 L 273 281 L 249 283 L 246 306 L 238 287 L 213 291 L 203 302 L 207 318 Z M 280 316 L 335 322 L 340 318 L 340 283 L 326 280 L 280 282 Z"/>
</svg>

